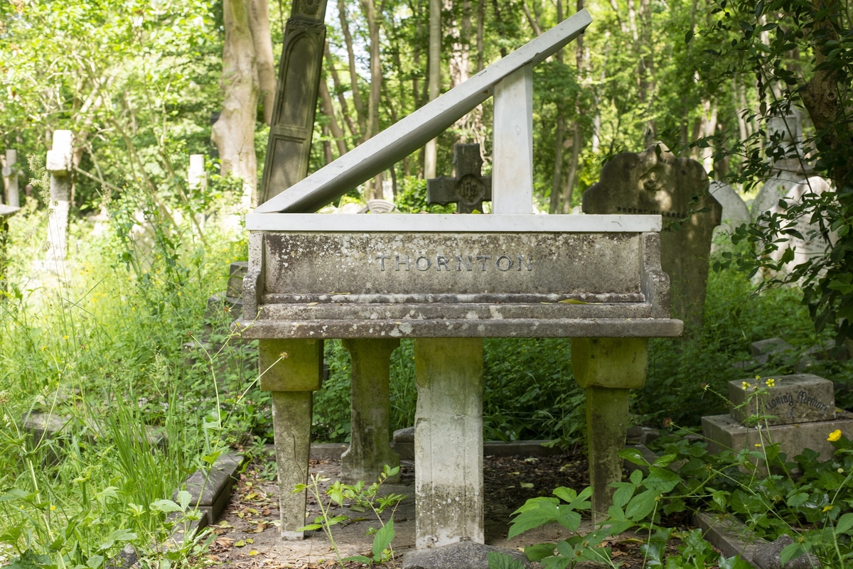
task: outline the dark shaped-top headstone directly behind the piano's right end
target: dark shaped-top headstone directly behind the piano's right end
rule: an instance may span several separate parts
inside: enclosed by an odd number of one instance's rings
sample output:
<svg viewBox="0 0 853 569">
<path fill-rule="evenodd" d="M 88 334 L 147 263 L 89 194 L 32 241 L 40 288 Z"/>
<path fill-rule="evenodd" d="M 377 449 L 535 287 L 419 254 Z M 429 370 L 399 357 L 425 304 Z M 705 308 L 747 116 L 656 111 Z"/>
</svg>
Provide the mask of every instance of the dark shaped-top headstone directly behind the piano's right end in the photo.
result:
<svg viewBox="0 0 853 569">
<path fill-rule="evenodd" d="M 693 197 L 699 198 L 698 204 L 691 203 Z M 709 211 L 690 215 L 703 208 Z M 722 217 L 721 205 L 708 193 L 702 165 L 656 147 L 618 154 L 601 169 L 601 181 L 583 193 L 583 213 L 663 216 L 660 265 L 670 275 L 672 313 L 684 320 L 688 334 L 699 334 L 711 238 Z M 681 227 L 671 225 L 688 215 Z"/>
</svg>

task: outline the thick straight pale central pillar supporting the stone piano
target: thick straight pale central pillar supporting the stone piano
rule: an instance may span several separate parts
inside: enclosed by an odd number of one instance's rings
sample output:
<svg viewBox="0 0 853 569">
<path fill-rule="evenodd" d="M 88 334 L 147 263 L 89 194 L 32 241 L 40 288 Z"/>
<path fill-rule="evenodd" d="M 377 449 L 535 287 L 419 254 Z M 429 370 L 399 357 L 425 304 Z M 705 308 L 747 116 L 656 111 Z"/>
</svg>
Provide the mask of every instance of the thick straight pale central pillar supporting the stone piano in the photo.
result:
<svg viewBox="0 0 853 569">
<path fill-rule="evenodd" d="M 483 543 L 483 340 L 415 340 L 415 547 Z"/>
</svg>

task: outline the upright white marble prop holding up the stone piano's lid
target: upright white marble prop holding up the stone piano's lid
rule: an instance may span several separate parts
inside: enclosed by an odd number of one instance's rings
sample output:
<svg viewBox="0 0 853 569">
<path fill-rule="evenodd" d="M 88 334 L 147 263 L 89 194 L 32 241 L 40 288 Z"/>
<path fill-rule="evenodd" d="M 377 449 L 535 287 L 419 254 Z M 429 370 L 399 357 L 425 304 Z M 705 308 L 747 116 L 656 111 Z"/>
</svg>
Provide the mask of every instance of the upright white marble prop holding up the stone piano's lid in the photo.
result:
<svg viewBox="0 0 853 569">
<path fill-rule="evenodd" d="M 491 211 L 533 212 L 533 66 L 528 63 L 495 85 L 495 147 Z"/>
</svg>

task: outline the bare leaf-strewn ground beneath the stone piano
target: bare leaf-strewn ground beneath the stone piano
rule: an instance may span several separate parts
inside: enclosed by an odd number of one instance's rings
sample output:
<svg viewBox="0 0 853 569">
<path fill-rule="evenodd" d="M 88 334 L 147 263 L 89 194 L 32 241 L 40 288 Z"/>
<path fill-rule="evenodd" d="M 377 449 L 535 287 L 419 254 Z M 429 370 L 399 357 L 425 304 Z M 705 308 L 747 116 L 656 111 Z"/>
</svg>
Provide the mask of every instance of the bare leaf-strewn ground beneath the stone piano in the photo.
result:
<svg viewBox="0 0 853 569">
<path fill-rule="evenodd" d="M 277 526 L 278 486 L 274 461 L 275 458 L 270 454 L 256 456 L 245 473 L 241 474 L 223 520 L 212 526 L 216 537 L 206 553 L 207 560 L 223 566 L 271 569 L 339 566 L 322 530 L 307 532 L 305 540 L 301 542 L 281 541 Z M 339 461 L 335 459 L 310 462 L 310 474 L 322 474 L 330 479 L 322 483 L 322 490 L 328 489 L 337 480 L 339 468 Z M 485 457 L 484 480 L 486 543 L 508 549 L 523 549 L 536 543 L 557 542 L 573 534 L 552 524 L 507 541 L 513 512 L 530 498 L 551 496 L 556 487 L 565 486 L 580 491 L 589 486 L 589 468 L 586 455 L 580 447 L 553 457 Z M 394 514 L 396 536 L 392 547 L 396 559 L 374 566 L 389 569 L 392 566 L 399 567 L 400 557 L 414 549 L 414 482 L 414 463 L 403 461 L 401 481 L 383 486 L 385 491 L 405 494 L 406 499 Z M 314 497 L 309 496 L 307 510 L 308 521 L 320 514 Z M 368 535 L 368 528 L 378 526 L 372 514 L 347 508 L 335 508 L 332 514 L 351 518 L 332 526 L 340 556 L 369 555 L 373 537 Z M 387 513 L 383 514 L 384 520 L 388 517 Z M 666 522 L 676 528 L 676 535 L 683 535 L 693 529 L 687 525 L 687 520 L 685 516 L 676 516 Z M 590 531 L 591 522 L 585 517 L 580 532 Z M 612 548 L 613 559 L 622 562 L 624 568 L 639 569 L 644 566 L 640 546 L 646 541 L 647 534 L 644 532 L 625 532 L 609 540 L 606 545 Z M 664 551 L 674 554 L 681 543 L 677 537 L 671 537 L 664 543 Z M 345 561 L 344 565 L 347 569 L 363 567 L 355 561 Z M 592 567 L 589 564 L 582 566 Z"/>
</svg>

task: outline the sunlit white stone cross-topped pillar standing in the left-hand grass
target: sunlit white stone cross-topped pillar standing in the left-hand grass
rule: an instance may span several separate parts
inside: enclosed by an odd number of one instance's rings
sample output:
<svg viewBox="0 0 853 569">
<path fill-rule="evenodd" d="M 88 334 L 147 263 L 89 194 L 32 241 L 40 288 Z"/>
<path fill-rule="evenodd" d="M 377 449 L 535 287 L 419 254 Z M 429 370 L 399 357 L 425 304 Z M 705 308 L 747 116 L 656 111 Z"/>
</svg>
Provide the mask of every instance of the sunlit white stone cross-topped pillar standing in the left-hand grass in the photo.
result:
<svg viewBox="0 0 853 569">
<path fill-rule="evenodd" d="M 60 262 L 68 252 L 68 212 L 71 209 L 71 130 L 54 130 L 53 149 L 48 151 L 50 172 L 50 215 L 48 218 L 48 259 Z M 51 267 L 58 269 L 59 267 Z"/>
</svg>

